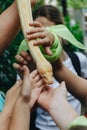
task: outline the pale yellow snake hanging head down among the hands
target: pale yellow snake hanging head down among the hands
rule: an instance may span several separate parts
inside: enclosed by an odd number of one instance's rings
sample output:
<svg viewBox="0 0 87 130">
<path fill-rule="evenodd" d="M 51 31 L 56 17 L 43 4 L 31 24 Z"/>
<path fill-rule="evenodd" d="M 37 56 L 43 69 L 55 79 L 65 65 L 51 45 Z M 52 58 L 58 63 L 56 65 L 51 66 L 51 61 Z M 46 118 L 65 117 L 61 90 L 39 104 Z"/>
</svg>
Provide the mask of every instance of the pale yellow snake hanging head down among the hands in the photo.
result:
<svg viewBox="0 0 87 130">
<path fill-rule="evenodd" d="M 29 22 L 32 22 L 32 11 L 31 11 L 31 3 L 30 0 L 16 0 L 18 6 L 18 12 L 20 16 L 21 26 L 23 30 L 23 34 L 26 39 L 26 30 L 30 29 Z M 26 40 L 27 41 L 27 40 Z M 44 58 L 39 47 L 34 46 L 34 40 L 27 41 L 29 46 L 29 51 L 31 56 L 33 57 L 36 67 L 43 77 L 44 81 L 47 84 L 51 84 L 53 82 L 52 78 L 52 66 L 51 64 Z"/>
</svg>

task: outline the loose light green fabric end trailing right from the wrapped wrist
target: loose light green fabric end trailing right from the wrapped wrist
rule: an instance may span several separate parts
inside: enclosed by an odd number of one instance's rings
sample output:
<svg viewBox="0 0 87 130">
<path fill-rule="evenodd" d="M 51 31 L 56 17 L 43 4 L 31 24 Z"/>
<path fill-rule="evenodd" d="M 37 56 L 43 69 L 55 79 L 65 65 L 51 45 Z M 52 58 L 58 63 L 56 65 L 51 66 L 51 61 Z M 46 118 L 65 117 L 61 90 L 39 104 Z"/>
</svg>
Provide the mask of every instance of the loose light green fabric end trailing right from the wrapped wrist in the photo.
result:
<svg viewBox="0 0 87 130">
<path fill-rule="evenodd" d="M 87 50 L 87 48 L 73 36 L 73 34 L 69 31 L 69 29 L 65 25 L 63 24 L 54 25 L 48 27 L 48 30 L 50 32 L 54 32 L 61 38 L 67 40 L 69 43 L 76 46 L 77 48 Z"/>
</svg>

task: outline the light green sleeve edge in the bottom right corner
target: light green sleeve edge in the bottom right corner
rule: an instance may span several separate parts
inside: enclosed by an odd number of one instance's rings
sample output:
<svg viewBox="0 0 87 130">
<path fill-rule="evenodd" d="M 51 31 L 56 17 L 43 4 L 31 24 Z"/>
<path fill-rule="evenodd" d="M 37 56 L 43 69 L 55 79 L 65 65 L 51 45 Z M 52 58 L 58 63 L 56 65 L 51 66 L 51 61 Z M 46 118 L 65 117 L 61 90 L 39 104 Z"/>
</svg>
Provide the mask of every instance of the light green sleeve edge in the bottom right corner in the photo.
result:
<svg viewBox="0 0 87 130">
<path fill-rule="evenodd" d="M 80 116 L 68 126 L 68 129 L 75 127 L 75 126 L 87 126 L 87 119 L 84 116 Z"/>
</svg>

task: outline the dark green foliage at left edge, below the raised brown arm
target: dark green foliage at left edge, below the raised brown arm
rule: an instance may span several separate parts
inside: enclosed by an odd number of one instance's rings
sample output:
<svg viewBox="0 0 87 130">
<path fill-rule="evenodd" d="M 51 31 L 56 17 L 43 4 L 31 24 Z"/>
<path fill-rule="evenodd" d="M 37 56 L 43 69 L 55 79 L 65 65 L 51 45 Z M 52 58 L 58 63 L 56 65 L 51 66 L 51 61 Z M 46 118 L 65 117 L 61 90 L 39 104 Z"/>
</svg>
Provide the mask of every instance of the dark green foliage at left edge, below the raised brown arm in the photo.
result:
<svg viewBox="0 0 87 130">
<path fill-rule="evenodd" d="M 20 32 L 9 48 L 0 56 L 0 90 L 6 92 L 16 81 L 16 70 L 12 67 L 18 46 L 23 39 Z"/>
</svg>

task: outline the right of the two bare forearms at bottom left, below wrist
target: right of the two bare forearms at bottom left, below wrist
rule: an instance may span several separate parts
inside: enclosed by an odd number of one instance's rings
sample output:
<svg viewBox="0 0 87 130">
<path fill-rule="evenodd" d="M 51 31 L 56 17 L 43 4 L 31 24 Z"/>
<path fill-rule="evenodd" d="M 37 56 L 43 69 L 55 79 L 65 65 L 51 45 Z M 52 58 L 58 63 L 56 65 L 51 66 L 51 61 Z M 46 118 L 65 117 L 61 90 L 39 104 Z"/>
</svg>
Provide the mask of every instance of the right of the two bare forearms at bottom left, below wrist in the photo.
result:
<svg viewBox="0 0 87 130">
<path fill-rule="evenodd" d="M 23 98 L 19 97 L 12 114 L 9 130 L 29 130 L 29 122 L 29 102 L 26 102 Z"/>
</svg>

